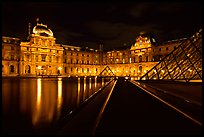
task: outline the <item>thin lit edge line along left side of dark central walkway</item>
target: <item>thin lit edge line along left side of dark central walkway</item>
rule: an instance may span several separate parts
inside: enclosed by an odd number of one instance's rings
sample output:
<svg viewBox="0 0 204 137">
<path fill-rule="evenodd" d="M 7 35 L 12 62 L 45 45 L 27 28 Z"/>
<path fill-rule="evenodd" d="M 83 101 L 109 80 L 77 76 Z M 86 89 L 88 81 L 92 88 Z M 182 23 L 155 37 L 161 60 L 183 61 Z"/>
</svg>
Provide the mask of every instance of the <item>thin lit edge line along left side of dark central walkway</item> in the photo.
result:
<svg viewBox="0 0 204 137">
<path fill-rule="evenodd" d="M 97 119 L 96 119 L 96 122 L 95 122 L 95 124 L 94 124 L 94 128 L 93 128 L 93 130 L 92 130 L 92 135 L 94 135 L 95 132 L 96 132 L 96 128 L 98 127 L 98 124 L 99 124 L 99 122 L 100 122 L 100 120 L 101 120 L 102 114 L 103 114 L 103 112 L 104 112 L 104 110 L 105 110 L 105 107 L 106 107 L 106 105 L 107 105 L 107 103 L 108 103 L 108 101 L 109 101 L 109 99 L 110 99 L 110 96 L 111 96 L 111 94 L 112 94 L 112 92 L 113 92 L 113 89 L 114 89 L 114 87 L 115 87 L 115 85 L 116 85 L 116 82 L 117 82 L 117 80 L 116 80 L 115 83 L 113 84 L 113 87 L 112 87 L 110 93 L 108 94 L 108 97 L 107 97 L 106 101 L 104 102 L 103 107 L 101 108 L 101 110 L 100 110 L 100 112 L 99 112 L 99 115 L 98 115 L 98 117 L 97 117 Z"/>
</svg>

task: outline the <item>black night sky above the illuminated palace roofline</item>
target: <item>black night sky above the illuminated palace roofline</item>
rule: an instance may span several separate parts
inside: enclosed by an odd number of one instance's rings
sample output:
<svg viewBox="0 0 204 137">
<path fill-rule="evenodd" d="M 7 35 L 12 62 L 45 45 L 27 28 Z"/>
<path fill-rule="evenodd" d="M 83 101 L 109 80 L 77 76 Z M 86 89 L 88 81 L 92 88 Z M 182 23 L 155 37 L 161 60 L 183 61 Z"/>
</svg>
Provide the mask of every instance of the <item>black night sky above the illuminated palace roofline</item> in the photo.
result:
<svg viewBox="0 0 204 137">
<path fill-rule="evenodd" d="M 159 42 L 189 37 L 202 25 L 200 2 L 13 2 L 2 4 L 3 36 L 26 39 L 36 18 L 58 44 L 105 49 L 132 45 L 140 32 Z"/>
</svg>

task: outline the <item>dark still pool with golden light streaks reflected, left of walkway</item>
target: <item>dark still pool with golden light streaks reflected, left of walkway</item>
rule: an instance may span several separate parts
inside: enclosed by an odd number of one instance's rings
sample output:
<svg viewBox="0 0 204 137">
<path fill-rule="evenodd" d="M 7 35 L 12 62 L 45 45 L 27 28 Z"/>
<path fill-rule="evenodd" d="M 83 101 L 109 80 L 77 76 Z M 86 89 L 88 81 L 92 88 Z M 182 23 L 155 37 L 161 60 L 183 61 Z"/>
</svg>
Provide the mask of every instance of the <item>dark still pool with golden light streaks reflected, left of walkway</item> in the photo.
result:
<svg viewBox="0 0 204 137">
<path fill-rule="evenodd" d="M 3 79 L 3 120 L 10 123 L 3 123 L 3 127 L 8 126 L 8 133 L 19 128 L 47 129 L 109 80 L 97 77 Z"/>
</svg>

